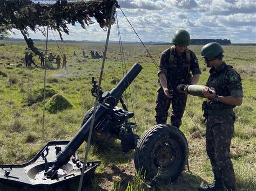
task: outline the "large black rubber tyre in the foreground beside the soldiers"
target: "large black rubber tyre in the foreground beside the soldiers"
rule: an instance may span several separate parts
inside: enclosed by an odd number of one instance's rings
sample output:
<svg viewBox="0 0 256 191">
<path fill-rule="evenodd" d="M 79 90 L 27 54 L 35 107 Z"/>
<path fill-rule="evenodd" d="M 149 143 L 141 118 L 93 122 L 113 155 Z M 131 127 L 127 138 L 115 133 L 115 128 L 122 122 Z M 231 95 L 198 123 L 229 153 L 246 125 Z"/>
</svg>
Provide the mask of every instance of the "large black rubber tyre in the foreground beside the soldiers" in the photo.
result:
<svg viewBox="0 0 256 191">
<path fill-rule="evenodd" d="M 134 153 L 135 168 L 141 175 L 145 173 L 145 180 L 150 185 L 170 184 L 177 180 L 187 159 L 186 137 L 170 124 L 154 125 L 145 131 Z"/>
</svg>

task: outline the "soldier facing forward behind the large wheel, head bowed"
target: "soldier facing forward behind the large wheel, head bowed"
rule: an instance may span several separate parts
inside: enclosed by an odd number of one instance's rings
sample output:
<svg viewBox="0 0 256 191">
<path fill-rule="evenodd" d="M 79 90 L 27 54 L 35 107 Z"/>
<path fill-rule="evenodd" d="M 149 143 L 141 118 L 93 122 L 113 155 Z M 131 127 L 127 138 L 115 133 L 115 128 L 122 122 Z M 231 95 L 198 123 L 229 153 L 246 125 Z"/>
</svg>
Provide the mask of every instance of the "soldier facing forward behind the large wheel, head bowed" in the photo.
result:
<svg viewBox="0 0 256 191">
<path fill-rule="evenodd" d="M 201 70 L 198 59 L 187 46 L 190 44 L 190 34 L 178 30 L 172 38 L 174 46 L 166 49 L 160 56 L 159 82 L 156 101 L 156 124 L 166 123 L 168 110 L 172 103 L 171 124 L 179 128 L 186 107 L 187 94 L 179 93 L 178 84 L 196 84 Z M 190 73 L 193 74 L 193 77 Z"/>
</svg>

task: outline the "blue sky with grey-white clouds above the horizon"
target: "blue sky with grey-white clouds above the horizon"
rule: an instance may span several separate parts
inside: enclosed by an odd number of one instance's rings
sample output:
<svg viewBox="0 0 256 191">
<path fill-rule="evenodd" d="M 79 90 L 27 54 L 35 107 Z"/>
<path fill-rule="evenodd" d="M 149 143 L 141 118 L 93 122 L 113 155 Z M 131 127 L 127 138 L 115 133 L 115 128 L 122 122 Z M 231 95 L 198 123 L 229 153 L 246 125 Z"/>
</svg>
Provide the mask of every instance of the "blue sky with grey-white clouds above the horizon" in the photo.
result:
<svg viewBox="0 0 256 191">
<path fill-rule="evenodd" d="M 45 2 L 45 0 L 43 1 Z M 232 43 L 256 43 L 255 0 L 130 0 L 118 1 L 142 41 L 171 42 L 173 34 L 184 29 L 191 39 L 230 39 Z M 123 13 L 117 9 L 122 41 L 139 41 Z M 107 32 L 98 23 L 84 30 L 69 25 L 64 40 L 105 40 Z M 11 37 L 22 38 L 19 31 Z M 55 37 L 59 39 L 55 32 Z M 45 39 L 41 32 L 30 32 L 32 39 Z M 50 32 L 49 39 L 54 39 Z M 112 25 L 110 40 L 118 41 L 117 23 Z"/>
</svg>

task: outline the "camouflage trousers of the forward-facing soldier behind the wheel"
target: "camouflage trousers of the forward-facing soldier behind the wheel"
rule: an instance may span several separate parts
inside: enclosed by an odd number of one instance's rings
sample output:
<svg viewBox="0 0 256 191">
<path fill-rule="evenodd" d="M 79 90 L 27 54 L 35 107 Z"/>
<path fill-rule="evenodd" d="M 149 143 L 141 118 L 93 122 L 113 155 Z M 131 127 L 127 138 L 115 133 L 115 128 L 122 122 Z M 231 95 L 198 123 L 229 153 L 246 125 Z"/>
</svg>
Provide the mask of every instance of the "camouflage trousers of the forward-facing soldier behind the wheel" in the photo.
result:
<svg viewBox="0 0 256 191">
<path fill-rule="evenodd" d="M 181 118 L 183 117 L 187 95 L 179 93 L 176 89 L 173 89 L 173 97 L 168 98 L 164 94 L 164 90 L 160 87 L 156 100 L 156 124 L 166 123 L 168 117 L 168 110 L 172 103 L 171 124 L 179 128 L 181 125 Z"/>
</svg>

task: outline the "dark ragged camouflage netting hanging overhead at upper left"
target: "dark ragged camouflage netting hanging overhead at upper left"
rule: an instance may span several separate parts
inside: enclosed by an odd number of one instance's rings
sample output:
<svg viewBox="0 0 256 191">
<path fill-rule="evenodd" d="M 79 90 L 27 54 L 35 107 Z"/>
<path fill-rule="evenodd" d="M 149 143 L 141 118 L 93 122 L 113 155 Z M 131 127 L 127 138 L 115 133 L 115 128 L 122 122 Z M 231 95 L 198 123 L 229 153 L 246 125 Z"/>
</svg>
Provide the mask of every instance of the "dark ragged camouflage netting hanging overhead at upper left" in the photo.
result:
<svg viewBox="0 0 256 191">
<path fill-rule="evenodd" d="M 55 4 L 39 4 L 28 0 L 1 0 L 0 1 L 0 34 L 20 30 L 28 47 L 37 55 L 41 53 L 28 38 L 28 30 L 41 31 L 42 27 L 58 31 L 60 39 L 62 32 L 69 34 L 67 24 L 75 25 L 78 22 L 84 29 L 92 24 L 94 17 L 99 26 L 105 28 L 109 25 L 113 5 L 119 7 L 116 0 L 90 1 L 90 2 L 56 2 Z M 114 14 L 116 12 L 114 11 Z M 112 24 L 115 22 L 114 17 Z"/>
</svg>

